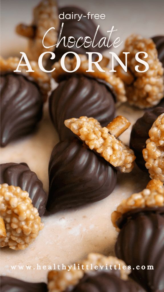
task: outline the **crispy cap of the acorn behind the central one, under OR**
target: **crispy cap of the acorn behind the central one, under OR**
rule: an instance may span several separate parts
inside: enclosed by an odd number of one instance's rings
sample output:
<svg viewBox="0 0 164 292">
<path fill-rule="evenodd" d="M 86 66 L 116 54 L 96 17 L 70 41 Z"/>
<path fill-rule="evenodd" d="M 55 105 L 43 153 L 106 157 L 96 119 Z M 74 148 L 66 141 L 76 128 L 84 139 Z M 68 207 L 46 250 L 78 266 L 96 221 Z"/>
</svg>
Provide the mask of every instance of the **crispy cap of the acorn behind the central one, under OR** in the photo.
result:
<svg viewBox="0 0 164 292">
<path fill-rule="evenodd" d="M 97 69 L 95 64 L 92 65 L 92 69 L 94 70 L 94 72 L 86 72 L 86 70 L 88 70 L 87 56 L 79 54 L 79 57 L 81 60 L 81 64 L 80 64 L 80 67 L 76 70 L 75 72 L 76 74 L 83 74 L 89 77 L 98 78 L 98 79 L 102 79 L 106 81 L 113 88 L 114 93 L 116 93 L 116 99 L 118 101 L 125 102 L 127 100 L 125 96 L 125 88 L 124 88 L 123 81 L 119 77 L 116 77 L 114 74 L 109 72 L 109 68 L 104 67 L 104 66 L 107 66 L 109 62 L 108 58 L 103 57 L 102 61 L 99 62 L 99 65 L 102 67 L 103 70 L 105 70 L 105 72 L 100 72 Z M 55 64 L 52 66 L 56 68 L 51 73 L 52 77 L 55 79 L 56 82 L 60 80 L 60 76 L 62 75 L 73 74 L 73 73 L 65 72 L 64 69 L 61 67 L 60 61 L 61 60 L 59 60 L 58 62 L 55 62 Z M 69 57 L 66 57 L 65 67 L 67 70 L 73 71 L 76 67 L 76 57 L 74 56 L 74 58 L 72 59 L 70 59 Z"/>
</svg>

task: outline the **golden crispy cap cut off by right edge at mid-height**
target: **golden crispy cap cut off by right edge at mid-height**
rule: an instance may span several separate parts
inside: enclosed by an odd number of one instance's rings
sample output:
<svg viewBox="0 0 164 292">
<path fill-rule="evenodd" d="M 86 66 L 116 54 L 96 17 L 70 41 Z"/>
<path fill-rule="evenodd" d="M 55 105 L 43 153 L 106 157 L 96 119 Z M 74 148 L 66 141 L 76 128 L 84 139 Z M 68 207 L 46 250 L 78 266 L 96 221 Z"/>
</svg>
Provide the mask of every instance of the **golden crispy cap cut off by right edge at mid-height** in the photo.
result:
<svg viewBox="0 0 164 292">
<path fill-rule="evenodd" d="M 164 113 L 153 123 L 142 151 L 151 179 L 164 182 Z"/>
</svg>

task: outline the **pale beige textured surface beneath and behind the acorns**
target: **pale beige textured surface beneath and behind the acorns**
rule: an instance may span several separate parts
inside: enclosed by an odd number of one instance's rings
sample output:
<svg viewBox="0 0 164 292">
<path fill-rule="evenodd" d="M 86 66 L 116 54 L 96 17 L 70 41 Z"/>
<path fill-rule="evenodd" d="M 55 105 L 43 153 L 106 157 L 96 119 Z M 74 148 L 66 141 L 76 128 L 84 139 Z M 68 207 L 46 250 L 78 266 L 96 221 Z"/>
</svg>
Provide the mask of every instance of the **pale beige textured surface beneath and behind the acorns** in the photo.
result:
<svg viewBox="0 0 164 292">
<path fill-rule="evenodd" d="M 106 19 L 97 23 L 100 23 L 104 33 L 114 25 L 118 29 L 116 36 L 120 36 L 123 40 L 133 32 L 143 34 L 143 36 L 163 34 L 162 0 L 156 2 L 103 1 L 103 5 L 95 0 L 60 0 L 59 2 L 61 6 L 76 4 L 91 13 L 105 13 Z M 25 51 L 26 41 L 14 34 L 14 27 L 19 22 L 29 22 L 30 9 L 37 3 L 36 0 L 23 1 L 23 4 L 20 0 L 1 1 L 1 54 L 3 57 L 18 55 L 20 51 Z M 115 52 L 117 53 L 118 50 Z M 142 113 L 142 110 L 127 105 L 122 105 L 117 109 L 117 115 L 124 115 L 132 124 Z M 129 142 L 130 129 L 120 137 L 124 142 Z M 1 149 L 1 163 L 26 162 L 43 181 L 47 192 L 48 162 L 53 146 L 57 142 L 57 133 L 45 106 L 45 115 L 39 130 Z M 89 252 L 113 255 L 117 232 L 111 223 L 111 213 L 116 210 L 122 199 L 143 190 L 148 181 L 149 176 L 135 167 L 132 173 L 118 174 L 117 186 L 108 198 L 80 209 L 60 212 L 49 217 L 43 216 L 42 221 L 45 227 L 29 248 L 25 251 L 11 251 L 7 247 L 3 248 L 1 274 L 34 282 L 46 281 L 48 270 L 36 270 L 36 263 L 41 266 L 53 263 L 67 265 L 81 260 Z M 18 268 L 11 270 L 10 265 L 32 265 L 32 270 Z"/>
</svg>

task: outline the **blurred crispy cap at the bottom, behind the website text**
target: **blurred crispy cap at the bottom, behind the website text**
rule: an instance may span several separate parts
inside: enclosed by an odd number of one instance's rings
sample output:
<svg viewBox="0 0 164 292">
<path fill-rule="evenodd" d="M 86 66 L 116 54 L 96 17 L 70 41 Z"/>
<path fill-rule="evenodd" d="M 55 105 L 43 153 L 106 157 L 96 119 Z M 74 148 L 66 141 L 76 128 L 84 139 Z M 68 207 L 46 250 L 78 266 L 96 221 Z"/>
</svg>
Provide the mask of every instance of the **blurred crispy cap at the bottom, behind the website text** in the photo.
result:
<svg viewBox="0 0 164 292">
<path fill-rule="evenodd" d="M 50 271 L 48 273 L 48 291 L 49 292 L 63 292 L 67 288 L 73 288 L 75 285 L 77 285 L 80 281 L 80 279 L 83 278 L 84 274 L 92 273 L 92 270 L 88 270 L 86 268 L 86 265 L 90 266 L 93 264 L 93 266 L 97 265 L 116 265 L 116 267 L 119 267 L 119 264 L 121 266 L 120 271 L 120 278 L 123 280 L 128 279 L 128 274 L 130 274 L 130 270 L 125 269 L 123 270 L 123 266 L 126 266 L 126 264 L 122 260 L 118 260 L 118 258 L 115 258 L 113 256 L 103 256 L 99 253 L 90 253 L 88 257 L 85 260 L 80 261 L 79 263 L 76 263 L 76 270 L 71 269 L 70 271 L 67 270 L 61 270 L 61 271 Z M 78 270 L 77 267 L 80 267 Z M 84 265 L 84 270 L 82 270 L 82 265 Z M 67 267 L 68 268 L 68 267 Z M 94 271 L 95 272 L 95 271 Z M 97 270 L 99 272 L 99 270 Z"/>
</svg>

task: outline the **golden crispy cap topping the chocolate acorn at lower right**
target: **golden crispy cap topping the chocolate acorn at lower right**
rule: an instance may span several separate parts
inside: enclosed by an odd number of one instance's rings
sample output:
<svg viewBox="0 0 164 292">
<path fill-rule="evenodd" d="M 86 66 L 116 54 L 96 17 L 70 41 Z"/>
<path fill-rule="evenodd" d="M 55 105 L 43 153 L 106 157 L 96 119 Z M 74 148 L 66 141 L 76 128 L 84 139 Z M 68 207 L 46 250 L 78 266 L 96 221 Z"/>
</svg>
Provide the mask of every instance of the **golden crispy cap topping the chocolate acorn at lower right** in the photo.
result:
<svg viewBox="0 0 164 292">
<path fill-rule="evenodd" d="M 125 199 L 117 207 L 117 210 L 111 214 L 111 221 L 117 227 L 117 220 L 121 218 L 124 213 L 137 208 L 147 207 L 163 207 L 164 206 L 164 187 L 160 180 L 151 180 L 146 189 L 139 193 L 132 194 L 128 199 Z"/>
</svg>

